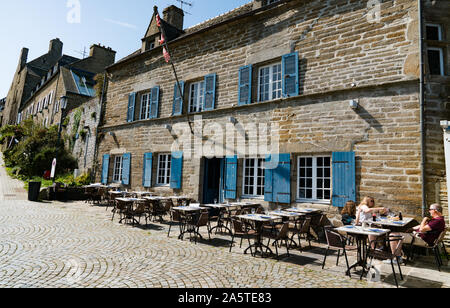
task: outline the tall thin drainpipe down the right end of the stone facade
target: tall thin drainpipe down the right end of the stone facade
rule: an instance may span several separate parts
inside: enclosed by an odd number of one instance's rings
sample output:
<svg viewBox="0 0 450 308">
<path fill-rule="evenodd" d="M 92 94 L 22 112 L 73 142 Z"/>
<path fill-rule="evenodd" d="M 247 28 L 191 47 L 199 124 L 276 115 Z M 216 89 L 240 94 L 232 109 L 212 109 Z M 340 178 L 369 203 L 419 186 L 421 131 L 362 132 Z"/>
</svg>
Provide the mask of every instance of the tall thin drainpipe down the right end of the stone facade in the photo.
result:
<svg viewBox="0 0 450 308">
<path fill-rule="evenodd" d="M 422 0 L 419 1 L 419 49 L 420 49 L 420 151 L 421 151 L 421 174 L 422 174 L 422 217 L 425 217 L 427 207 L 426 175 L 425 175 L 425 62 L 424 62 L 424 24 Z"/>
</svg>

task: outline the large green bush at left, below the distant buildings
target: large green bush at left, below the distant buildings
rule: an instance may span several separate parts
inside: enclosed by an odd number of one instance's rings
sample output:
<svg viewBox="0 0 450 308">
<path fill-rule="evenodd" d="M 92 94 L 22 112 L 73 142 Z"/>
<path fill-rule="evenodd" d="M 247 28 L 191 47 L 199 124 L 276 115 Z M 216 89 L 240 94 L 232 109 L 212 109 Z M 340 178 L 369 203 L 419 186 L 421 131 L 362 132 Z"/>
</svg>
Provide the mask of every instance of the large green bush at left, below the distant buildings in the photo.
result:
<svg viewBox="0 0 450 308">
<path fill-rule="evenodd" d="M 57 156 L 57 174 L 65 174 L 77 167 L 75 158 L 65 149 L 64 143 L 58 144 L 57 126 L 47 129 L 29 119 L 15 128 L 7 126 L 0 130 L 2 138 L 9 136 L 6 141 L 12 137 L 11 132 L 14 132 L 13 136 L 19 143 L 4 151 L 4 158 L 6 167 L 11 168 L 16 176 L 42 176 L 51 169 L 52 161 Z"/>
</svg>

